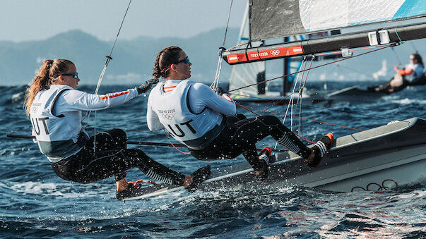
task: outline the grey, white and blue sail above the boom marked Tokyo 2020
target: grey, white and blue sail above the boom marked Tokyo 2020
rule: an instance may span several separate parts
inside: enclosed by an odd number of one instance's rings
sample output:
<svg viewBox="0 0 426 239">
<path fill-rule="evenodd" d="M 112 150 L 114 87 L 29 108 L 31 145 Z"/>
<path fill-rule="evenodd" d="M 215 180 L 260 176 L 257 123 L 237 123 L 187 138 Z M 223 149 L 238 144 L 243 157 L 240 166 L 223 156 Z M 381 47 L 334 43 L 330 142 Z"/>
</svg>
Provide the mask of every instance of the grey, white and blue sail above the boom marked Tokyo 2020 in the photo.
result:
<svg viewBox="0 0 426 239">
<path fill-rule="evenodd" d="M 251 0 L 252 40 L 426 16 L 423 0 Z"/>
</svg>

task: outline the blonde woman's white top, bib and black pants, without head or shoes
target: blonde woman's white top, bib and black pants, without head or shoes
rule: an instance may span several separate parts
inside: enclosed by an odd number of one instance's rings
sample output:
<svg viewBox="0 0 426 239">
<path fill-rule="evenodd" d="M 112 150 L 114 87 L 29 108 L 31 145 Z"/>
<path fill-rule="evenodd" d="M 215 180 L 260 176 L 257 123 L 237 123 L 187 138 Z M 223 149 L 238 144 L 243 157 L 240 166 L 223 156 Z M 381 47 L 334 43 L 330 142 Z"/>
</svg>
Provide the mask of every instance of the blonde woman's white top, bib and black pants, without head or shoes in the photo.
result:
<svg viewBox="0 0 426 239">
<path fill-rule="evenodd" d="M 138 87 L 99 95 L 73 90 L 67 85 L 52 85 L 38 92 L 30 107 L 32 135 L 54 172 L 64 180 L 92 183 L 110 176 L 121 180 L 129 168 L 139 168 L 155 180 L 182 185 L 182 173 L 158 164 L 140 149 L 126 149 L 127 137 L 123 130 L 97 134 L 94 152 L 93 137 L 88 137 L 81 126 L 81 111 L 124 104 L 147 90 L 149 87 Z"/>
</svg>

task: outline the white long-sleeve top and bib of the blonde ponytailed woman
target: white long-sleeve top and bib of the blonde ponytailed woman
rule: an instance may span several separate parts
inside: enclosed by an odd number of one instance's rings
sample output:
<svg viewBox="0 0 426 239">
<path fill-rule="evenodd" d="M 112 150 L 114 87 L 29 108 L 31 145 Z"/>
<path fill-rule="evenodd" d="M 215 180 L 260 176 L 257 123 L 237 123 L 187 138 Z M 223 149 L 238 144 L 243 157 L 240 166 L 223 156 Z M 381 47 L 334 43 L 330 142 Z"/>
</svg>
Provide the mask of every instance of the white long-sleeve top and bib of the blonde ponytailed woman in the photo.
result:
<svg viewBox="0 0 426 239">
<path fill-rule="evenodd" d="M 97 111 L 123 104 L 138 95 L 138 90 L 110 94 L 89 94 L 68 85 L 52 85 L 35 95 L 30 108 L 32 135 L 40 151 L 52 162 L 76 154 L 83 147 L 81 111 Z"/>
</svg>

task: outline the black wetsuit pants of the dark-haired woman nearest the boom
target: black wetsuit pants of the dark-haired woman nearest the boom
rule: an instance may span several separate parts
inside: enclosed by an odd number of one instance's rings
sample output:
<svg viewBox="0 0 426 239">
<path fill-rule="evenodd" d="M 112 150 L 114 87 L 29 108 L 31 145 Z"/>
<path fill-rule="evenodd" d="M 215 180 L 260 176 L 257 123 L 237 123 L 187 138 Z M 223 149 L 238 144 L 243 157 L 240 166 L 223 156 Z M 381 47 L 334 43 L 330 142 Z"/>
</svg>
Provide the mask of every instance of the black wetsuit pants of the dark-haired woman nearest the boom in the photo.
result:
<svg viewBox="0 0 426 239">
<path fill-rule="evenodd" d="M 268 135 L 304 159 L 312 152 L 275 116 L 246 118 L 237 114 L 226 118 L 225 129 L 208 147 L 191 150 L 191 154 L 199 160 L 232 159 L 242 154 L 254 170 L 258 171 L 261 164 L 256 152 L 256 142 Z"/>
</svg>

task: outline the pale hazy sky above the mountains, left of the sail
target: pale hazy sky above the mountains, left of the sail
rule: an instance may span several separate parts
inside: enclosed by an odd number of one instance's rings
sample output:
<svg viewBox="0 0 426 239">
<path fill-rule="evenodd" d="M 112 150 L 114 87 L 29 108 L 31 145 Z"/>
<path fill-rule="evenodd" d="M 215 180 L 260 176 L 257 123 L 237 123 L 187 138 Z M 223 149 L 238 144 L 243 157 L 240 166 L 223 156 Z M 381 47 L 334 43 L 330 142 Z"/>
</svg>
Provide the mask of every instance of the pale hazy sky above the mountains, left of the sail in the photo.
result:
<svg viewBox="0 0 426 239">
<path fill-rule="evenodd" d="M 231 0 L 132 0 L 120 39 L 192 37 L 225 27 Z M 1 0 L 0 40 L 47 39 L 80 29 L 112 40 L 122 23 L 128 0 Z M 247 0 L 234 0 L 230 27 L 239 27 Z"/>
</svg>

